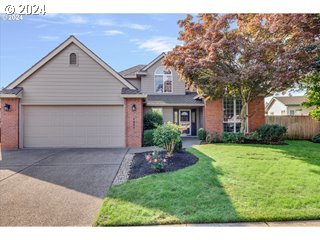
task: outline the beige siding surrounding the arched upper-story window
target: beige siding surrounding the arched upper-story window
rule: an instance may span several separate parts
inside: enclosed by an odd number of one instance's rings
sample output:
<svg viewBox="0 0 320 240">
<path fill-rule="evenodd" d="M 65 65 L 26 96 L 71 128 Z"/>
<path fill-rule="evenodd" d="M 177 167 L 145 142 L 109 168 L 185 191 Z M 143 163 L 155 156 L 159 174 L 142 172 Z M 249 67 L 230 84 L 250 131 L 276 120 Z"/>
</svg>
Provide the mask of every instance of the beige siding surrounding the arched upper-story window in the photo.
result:
<svg viewBox="0 0 320 240">
<path fill-rule="evenodd" d="M 147 94 L 157 94 L 154 92 L 154 72 L 155 70 L 161 66 L 161 60 L 152 65 L 147 70 L 147 76 L 141 77 L 141 91 Z M 175 71 L 173 73 L 173 91 L 172 93 L 162 93 L 162 94 L 185 94 L 185 84 L 179 78 L 178 74 Z"/>
</svg>

